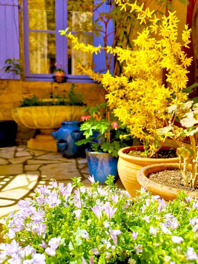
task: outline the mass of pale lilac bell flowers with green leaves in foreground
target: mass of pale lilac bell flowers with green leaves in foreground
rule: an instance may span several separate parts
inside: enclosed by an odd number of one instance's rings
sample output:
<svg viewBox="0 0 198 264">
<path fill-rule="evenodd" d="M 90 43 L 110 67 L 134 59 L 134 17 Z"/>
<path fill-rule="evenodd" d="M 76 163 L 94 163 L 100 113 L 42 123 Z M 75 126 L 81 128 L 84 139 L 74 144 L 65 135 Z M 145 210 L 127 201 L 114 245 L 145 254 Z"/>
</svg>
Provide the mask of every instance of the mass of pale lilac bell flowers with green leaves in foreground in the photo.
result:
<svg viewBox="0 0 198 264">
<path fill-rule="evenodd" d="M 198 201 L 180 193 L 166 203 L 141 188 L 138 196 L 89 176 L 54 189 L 40 186 L 32 200 L 5 219 L 0 263 L 198 263 Z"/>
</svg>

